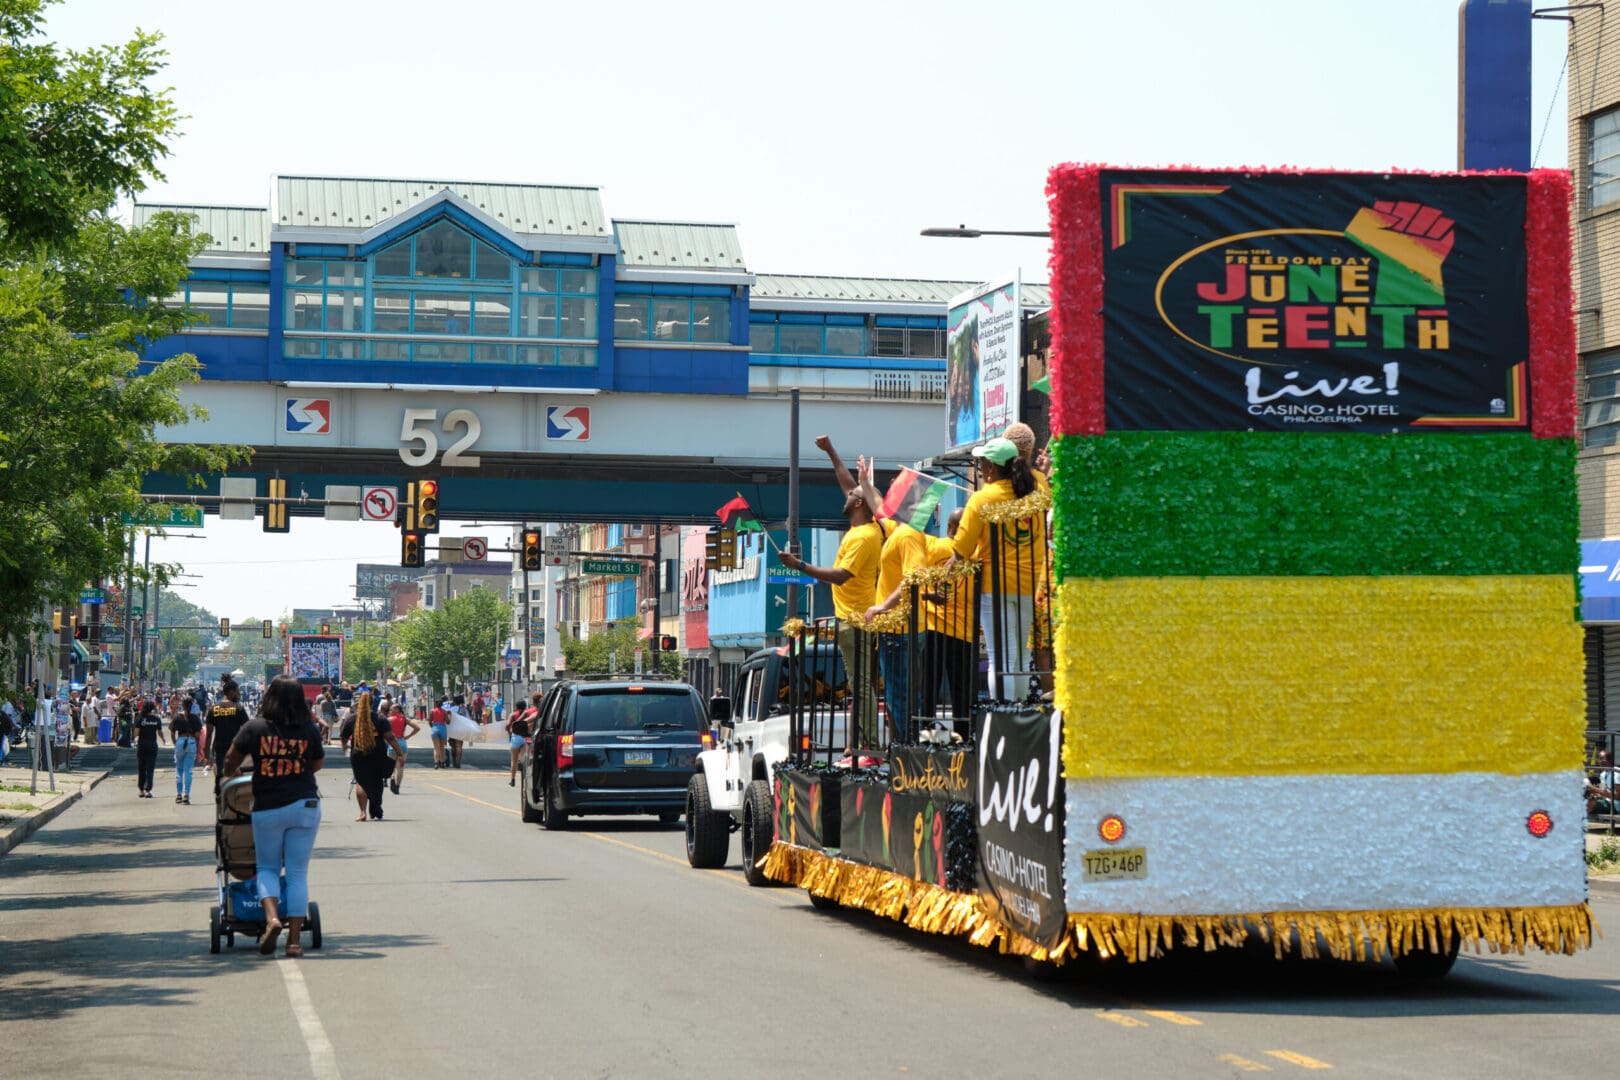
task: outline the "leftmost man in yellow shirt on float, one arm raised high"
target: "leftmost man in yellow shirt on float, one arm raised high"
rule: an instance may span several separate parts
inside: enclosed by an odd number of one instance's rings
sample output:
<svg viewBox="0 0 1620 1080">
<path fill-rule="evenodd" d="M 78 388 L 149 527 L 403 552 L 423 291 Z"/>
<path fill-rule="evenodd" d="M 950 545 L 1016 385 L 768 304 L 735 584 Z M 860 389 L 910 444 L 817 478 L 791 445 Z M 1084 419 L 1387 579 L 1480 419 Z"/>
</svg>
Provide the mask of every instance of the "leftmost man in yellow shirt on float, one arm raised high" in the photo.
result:
<svg viewBox="0 0 1620 1080">
<path fill-rule="evenodd" d="M 883 529 L 872 520 L 872 508 L 867 505 L 865 489 L 854 483 L 849 471 L 842 468 L 831 442 L 826 436 L 816 439 L 816 445 L 826 450 L 836 463 L 839 486 L 844 487 L 844 517 L 849 529 L 838 544 L 838 557 L 831 567 L 813 567 L 792 552 L 781 552 L 781 562 L 789 570 L 795 570 L 833 586 L 833 614 L 838 615 L 838 651 L 844 657 L 844 672 L 850 690 L 850 730 L 854 738 L 850 750 L 878 745 L 878 695 L 873 690 L 878 653 L 876 635 L 857 630 L 850 620 L 865 614 L 872 607 L 878 589 L 878 563 L 883 554 Z M 849 484 L 844 479 L 849 478 Z"/>
</svg>

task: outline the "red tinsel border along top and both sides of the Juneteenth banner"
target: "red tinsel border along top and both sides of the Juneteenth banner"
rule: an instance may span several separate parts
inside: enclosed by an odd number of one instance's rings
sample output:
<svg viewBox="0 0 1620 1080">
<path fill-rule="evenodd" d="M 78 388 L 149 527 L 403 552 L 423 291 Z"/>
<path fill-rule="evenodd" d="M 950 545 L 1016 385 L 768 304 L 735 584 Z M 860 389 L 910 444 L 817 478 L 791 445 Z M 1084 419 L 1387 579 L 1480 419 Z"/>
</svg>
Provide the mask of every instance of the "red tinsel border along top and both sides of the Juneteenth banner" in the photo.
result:
<svg viewBox="0 0 1620 1080">
<path fill-rule="evenodd" d="M 1047 175 L 1051 220 L 1051 431 L 1058 436 L 1100 436 L 1103 415 L 1103 165 L 1056 165 Z M 1160 172 L 1200 173 L 1312 173 L 1309 168 L 1192 168 Z M 1429 172 L 1392 168 L 1390 173 L 1479 176 L 1487 172 Z M 1358 175 L 1366 175 L 1359 172 Z M 1497 173 L 1500 175 L 1500 173 Z M 1570 175 L 1537 168 L 1526 176 L 1524 257 L 1529 314 L 1531 432 L 1537 439 L 1568 439 L 1576 424 L 1576 351 L 1570 287 Z"/>
</svg>

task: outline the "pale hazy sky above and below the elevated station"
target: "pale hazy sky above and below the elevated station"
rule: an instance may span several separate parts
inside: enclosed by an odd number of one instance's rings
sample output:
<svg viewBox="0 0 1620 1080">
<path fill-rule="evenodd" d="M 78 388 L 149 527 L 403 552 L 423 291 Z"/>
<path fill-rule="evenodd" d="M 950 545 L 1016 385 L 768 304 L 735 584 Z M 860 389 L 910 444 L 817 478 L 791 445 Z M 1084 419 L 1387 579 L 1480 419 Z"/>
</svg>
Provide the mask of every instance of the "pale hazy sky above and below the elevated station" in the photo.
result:
<svg viewBox="0 0 1620 1080">
<path fill-rule="evenodd" d="M 1533 24 L 1536 164 L 1563 167 L 1567 23 Z M 763 274 L 1047 279 L 1047 172 L 1456 167 L 1456 0 L 66 0 L 66 47 L 159 31 L 185 115 L 143 199 L 267 206 L 285 175 L 569 183 L 731 222 Z M 1547 123 L 1550 117 L 1550 123 Z M 1545 136 L 1542 138 L 1542 131 Z M 332 607 L 387 525 L 209 518 L 154 539 L 217 615 Z M 505 531 L 449 525 L 450 534 Z"/>
</svg>

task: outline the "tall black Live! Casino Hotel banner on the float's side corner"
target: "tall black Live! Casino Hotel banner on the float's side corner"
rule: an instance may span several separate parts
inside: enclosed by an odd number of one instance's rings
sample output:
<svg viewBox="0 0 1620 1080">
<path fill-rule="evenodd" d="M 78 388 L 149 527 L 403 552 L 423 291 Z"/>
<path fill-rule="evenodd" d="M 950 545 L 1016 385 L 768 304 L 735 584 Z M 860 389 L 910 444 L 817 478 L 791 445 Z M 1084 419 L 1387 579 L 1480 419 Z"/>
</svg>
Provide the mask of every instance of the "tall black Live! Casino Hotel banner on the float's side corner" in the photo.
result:
<svg viewBox="0 0 1620 1080">
<path fill-rule="evenodd" d="M 978 746 L 978 894 L 1042 946 L 1068 929 L 1063 899 L 1063 724 L 1038 709 L 990 711 Z"/>
</svg>

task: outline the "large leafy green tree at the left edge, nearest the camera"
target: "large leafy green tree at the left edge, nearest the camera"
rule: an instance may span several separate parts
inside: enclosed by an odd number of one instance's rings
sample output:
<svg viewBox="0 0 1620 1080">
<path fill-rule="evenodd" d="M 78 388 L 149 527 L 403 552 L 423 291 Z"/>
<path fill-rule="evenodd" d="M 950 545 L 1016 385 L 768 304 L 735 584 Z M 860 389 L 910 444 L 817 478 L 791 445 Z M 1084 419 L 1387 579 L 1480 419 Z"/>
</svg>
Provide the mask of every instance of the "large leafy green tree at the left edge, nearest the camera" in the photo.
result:
<svg viewBox="0 0 1620 1080">
<path fill-rule="evenodd" d="M 157 37 L 58 50 L 40 40 L 47 0 L 0 0 L 0 640 L 115 575 L 120 515 L 143 479 L 191 481 L 246 450 L 165 445 L 159 427 L 201 410 L 180 400 L 196 359 L 141 361 L 194 317 L 165 306 L 204 244 L 190 219 L 112 219 L 156 168 L 177 115 Z"/>
</svg>

